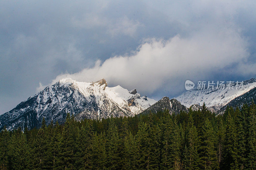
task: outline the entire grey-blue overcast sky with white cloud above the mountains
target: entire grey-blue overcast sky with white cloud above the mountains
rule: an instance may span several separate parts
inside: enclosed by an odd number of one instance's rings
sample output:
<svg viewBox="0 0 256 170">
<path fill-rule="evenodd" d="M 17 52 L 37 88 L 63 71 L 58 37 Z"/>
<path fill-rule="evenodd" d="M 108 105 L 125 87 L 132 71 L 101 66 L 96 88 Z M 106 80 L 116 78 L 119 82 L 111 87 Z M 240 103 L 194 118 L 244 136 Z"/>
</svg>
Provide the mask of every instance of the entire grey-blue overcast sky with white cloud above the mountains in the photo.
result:
<svg viewBox="0 0 256 170">
<path fill-rule="evenodd" d="M 256 1 L 0 1 L 0 114 L 61 78 L 159 100 L 256 77 Z"/>
</svg>

